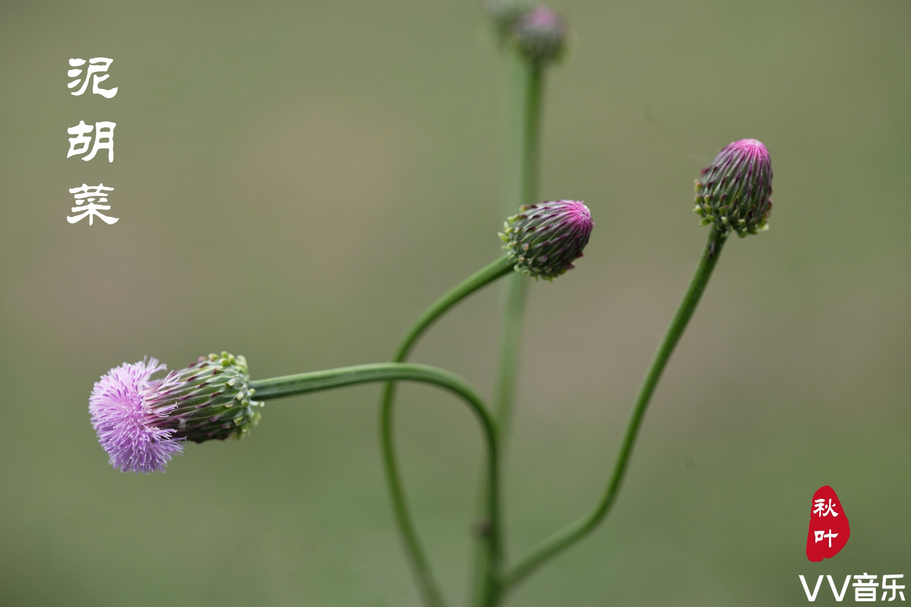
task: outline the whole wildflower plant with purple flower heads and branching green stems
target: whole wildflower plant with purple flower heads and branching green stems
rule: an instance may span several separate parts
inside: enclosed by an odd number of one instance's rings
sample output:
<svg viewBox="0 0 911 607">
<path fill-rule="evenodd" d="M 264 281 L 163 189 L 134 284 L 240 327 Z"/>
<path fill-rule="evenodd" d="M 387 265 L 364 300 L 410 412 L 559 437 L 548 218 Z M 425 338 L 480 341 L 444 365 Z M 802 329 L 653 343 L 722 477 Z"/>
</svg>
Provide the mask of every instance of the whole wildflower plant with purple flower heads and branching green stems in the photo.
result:
<svg viewBox="0 0 911 607">
<path fill-rule="evenodd" d="M 475 416 L 485 444 L 482 506 L 476 525 L 476 566 L 472 602 L 501 604 L 510 590 L 537 569 L 587 537 L 609 514 L 619 495 L 632 450 L 661 373 L 692 317 L 722 248 L 732 233 L 744 237 L 768 228 L 772 208 L 772 164 L 755 139 L 724 147 L 696 180 L 695 212 L 710 226 L 708 241 L 689 287 L 670 320 L 642 380 L 617 458 L 599 500 L 588 514 L 539 543 L 524 558 L 508 563 L 503 551 L 500 474 L 517 384 L 517 350 L 529 278 L 553 281 L 574 268 L 589 243 L 593 221 L 577 200 L 537 199 L 537 168 L 544 70 L 566 46 L 567 26 L 551 9 L 516 0 L 490 0 L 491 20 L 509 57 L 512 103 L 507 118 L 507 220 L 500 233 L 505 253 L 459 282 L 431 304 L 405 332 L 391 361 L 251 379 L 246 359 L 227 352 L 201 357 L 166 372 L 158 359 L 110 369 L 91 391 L 92 427 L 110 465 L 125 472 L 165 470 L 187 442 L 240 439 L 261 417 L 265 400 L 363 383 L 383 383 L 380 439 L 387 487 L 396 524 L 421 597 L 430 607 L 446 604 L 430 559 L 419 539 L 405 497 L 394 441 L 398 382 L 435 385 L 454 395 Z M 493 230 L 491 230 L 493 231 Z M 491 235 L 492 236 L 492 235 Z M 493 240 L 493 238 L 491 238 Z M 507 278 L 501 356 L 495 406 L 490 407 L 465 379 L 445 369 L 407 362 L 419 339 L 437 319 L 481 288 Z"/>
</svg>

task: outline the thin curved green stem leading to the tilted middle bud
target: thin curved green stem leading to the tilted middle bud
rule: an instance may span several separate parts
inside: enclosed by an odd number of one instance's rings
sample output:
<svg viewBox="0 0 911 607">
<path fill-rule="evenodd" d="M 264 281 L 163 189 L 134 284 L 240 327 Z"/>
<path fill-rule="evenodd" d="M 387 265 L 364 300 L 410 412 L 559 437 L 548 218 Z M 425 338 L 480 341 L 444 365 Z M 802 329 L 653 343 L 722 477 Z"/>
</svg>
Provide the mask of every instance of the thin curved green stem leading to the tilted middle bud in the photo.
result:
<svg viewBox="0 0 911 607">
<path fill-rule="evenodd" d="M 442 298 L 439 298 L 424 314 L 411 326 L 405 333 L 404 338 L 395 350 L 395 362 L 401 362 L 408 357 L 408 354 L 415 347 L 415 343 L 424 334 L 436 319 L 440 318 L 446 310 L 452 308 L 462 299 L 468 297 L 476 290 L 490 284 L 496 278 L 507 275 L 512 271 L 513 264 L 509 258 L 502 257 L 492 264 L 482 268 L 472 276 L 466 278 L 461 283 L 452 288 Z M 408 504 L 404 495 L 402 484 L 402 474 L 399 470 L 398 460 L 395 455 L 394 443 L 394 423 L 393 410 L 395 404 L 395 384 L 389 382 L 386 384 L 383 392 L 382 407 L 380 412 L 380 441 L 383 446 L 383 463 L 386 473 L 386 484 L 389 489 L 390 497 L 393 502 L 393 512 L 395 521 L 398 523 L 399 531 L 402 533 L 404 548 L 411 561 L 412 569 L 415 572 L 418 588 L 424 601 L 431 607 L 441 607 L 445 604 L 443 595 L 437 586 L 433 572 L 431 571 L 430 562 L 421 542 L 418 540 L 415 523 L 408 510 Z M 489 516 L 489 515 L 488 515 Z M 491 516 L 491 520 L 495 517 Z M 498 519 L 498 516 L 496 516 Z M 492 530 L 489 536 L 487 550 L 491 553 L 499 551 L 499 528 L 491 525 Z M 494 532 L 496 531 L 496 532 Z"/>
</svg>

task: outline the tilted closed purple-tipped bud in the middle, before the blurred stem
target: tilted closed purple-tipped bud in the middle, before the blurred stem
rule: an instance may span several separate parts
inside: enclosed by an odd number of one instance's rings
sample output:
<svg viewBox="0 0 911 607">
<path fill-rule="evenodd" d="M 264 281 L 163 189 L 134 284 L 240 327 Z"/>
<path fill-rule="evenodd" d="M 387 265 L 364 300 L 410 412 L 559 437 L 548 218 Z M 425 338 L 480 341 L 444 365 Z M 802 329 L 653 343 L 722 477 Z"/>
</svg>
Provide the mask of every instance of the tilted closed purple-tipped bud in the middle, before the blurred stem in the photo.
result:
<svg viewBox="0 0 911 607">
<path fill-rule="evenodd" d="M 500 238 L 517 271 L 551 280 L 582 257 L 593 225 L 584 203 L 554 200 L 519 207 L 519 214 L 503 224 Z"/>
</svg>

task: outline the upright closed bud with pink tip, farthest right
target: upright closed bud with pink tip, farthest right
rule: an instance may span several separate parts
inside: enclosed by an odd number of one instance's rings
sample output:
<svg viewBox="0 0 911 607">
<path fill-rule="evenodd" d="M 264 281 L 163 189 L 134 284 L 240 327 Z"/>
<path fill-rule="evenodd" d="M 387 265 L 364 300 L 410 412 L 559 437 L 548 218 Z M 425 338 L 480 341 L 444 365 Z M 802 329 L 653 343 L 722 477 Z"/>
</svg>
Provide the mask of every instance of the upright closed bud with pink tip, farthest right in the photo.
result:
<svg viewBox="0 0 911 607">
<path fill-rule="evenodd" d="M 696 179 L 696 207 L 702 225 L 712 222 L 738 236 L 768 229 L 772 211 L 772 160 L 761 141 L 741 139 L 725 146 Z"/>
</svg>

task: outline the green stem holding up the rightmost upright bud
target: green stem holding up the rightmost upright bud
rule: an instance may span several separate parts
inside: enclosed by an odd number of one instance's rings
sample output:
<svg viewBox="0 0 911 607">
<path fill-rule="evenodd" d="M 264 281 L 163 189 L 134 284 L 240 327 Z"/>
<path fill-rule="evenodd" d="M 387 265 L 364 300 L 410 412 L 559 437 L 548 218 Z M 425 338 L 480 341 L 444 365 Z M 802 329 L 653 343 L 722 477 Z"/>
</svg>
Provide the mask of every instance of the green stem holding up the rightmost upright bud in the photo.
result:
<svg viewBox="0 0 911 607">
<path fill-rule="evenodd" d="M 711 271 L 718 263 L 721 255 L 726 235 L 722 234 L 715 228 L 711 227 L 709 242 L 702 253 L 699 265 L 690 281 L 690 287 L 687 288 L 686 294 L 681 300 L 680 306 L 674 313 L 673 319 L 670 320 L 670 326 L 661 339 L 658 351 L 655 352 L 651 360 L 649 371 L 636 397 L 636 403 L 633 405 L 630 421 L 627 423 L 626 433 L 623 436 L 623 442 L 620 444 L 617 460 L 614 464 L 613 474 L 610 477 L 607 489 L 601 496 L 598 505 L 589 514 L 578 521 L 570 524 L 561 531 L 552 535 L 548 540 L 541 542 L 537 548 L 531 551 L 523 561 L 520 561 L 516 568 L 507 575 L 504 582 L 504 588 L 515 586 L 527 577 L 527 575 L 537 569 L 539 565 L 556 556 L 559 552 L 566 550 L 569 546 L 584 538 L 590 531 L 594 530 L 601 521 L 608 515 L 611 506 L 617 499 L 620 489 L 620 483 L 626 473 L 627 466 L 630 463 L 630 454 L 636 444 L 636 436 L 639 434 L 642 419 L 645 416 L 645 410 L 649 406 L 651 395 L 658 385 L 661 372 L 670 359 L 677 342 L 681 339 L 683 329 L 686 329 L 696 305 L 702 296 L 705 285 L 711 278 Z"/>
</svg>

